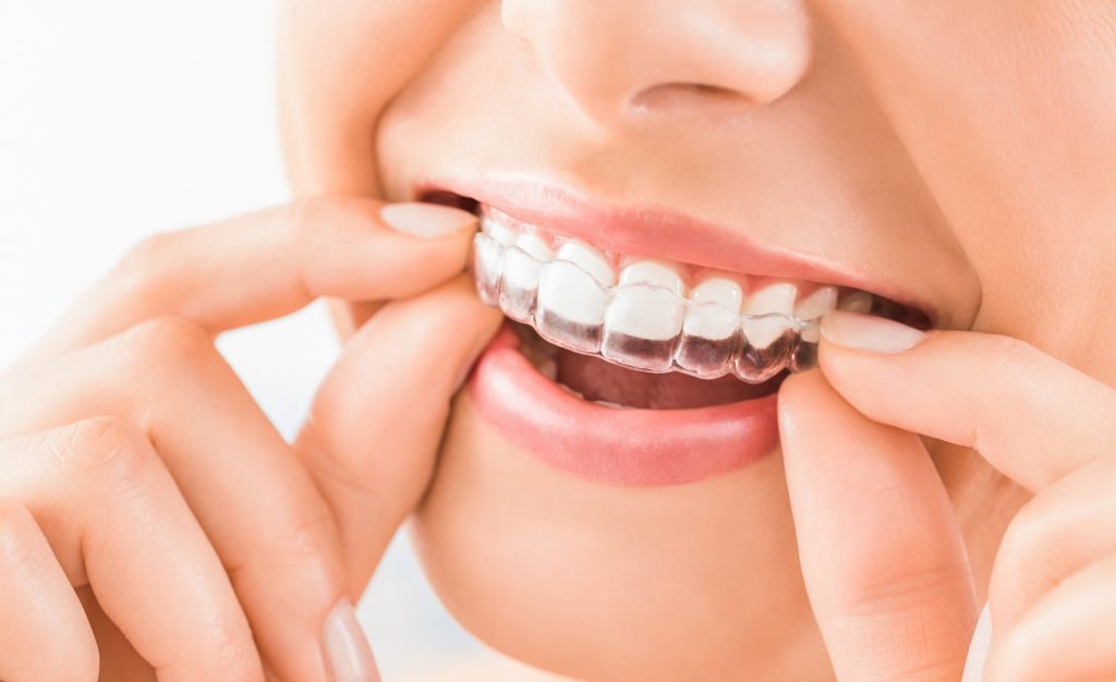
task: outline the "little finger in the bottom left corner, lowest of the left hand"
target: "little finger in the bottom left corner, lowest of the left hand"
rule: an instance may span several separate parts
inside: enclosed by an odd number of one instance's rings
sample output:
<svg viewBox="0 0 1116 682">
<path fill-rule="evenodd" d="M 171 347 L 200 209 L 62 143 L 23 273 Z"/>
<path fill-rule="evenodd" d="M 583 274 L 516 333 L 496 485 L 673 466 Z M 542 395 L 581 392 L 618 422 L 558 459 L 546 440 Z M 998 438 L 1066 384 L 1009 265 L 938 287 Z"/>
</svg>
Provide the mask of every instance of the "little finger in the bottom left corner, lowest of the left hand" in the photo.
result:
<svg viewBox="0 0 1116 682">
<path fill-rule="evenodd" d="M 93 631 L 50 544 L 22 505 L 0 502 L 0 680 L 96 682 L 98 670 Z"/>
</svg>

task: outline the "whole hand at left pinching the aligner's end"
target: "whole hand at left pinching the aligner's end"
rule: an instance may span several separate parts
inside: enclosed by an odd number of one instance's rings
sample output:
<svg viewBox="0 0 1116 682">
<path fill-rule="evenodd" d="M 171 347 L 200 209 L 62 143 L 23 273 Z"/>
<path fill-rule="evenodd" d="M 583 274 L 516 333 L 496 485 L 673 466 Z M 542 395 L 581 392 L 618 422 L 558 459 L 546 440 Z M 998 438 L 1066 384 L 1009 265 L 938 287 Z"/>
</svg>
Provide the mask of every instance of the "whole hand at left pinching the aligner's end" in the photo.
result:
<svg viewBox="0 0 1116 682">
<path fill-rule="evenodd" d="M 151 239 L 83 298 L 0 383 L 0 679 L 375 679 L 349 601 L 499 324 L 473 225 L 305 201 Z M 383 306 L 291 446 L 212 342 L 319 296 Z"/>
</svg>

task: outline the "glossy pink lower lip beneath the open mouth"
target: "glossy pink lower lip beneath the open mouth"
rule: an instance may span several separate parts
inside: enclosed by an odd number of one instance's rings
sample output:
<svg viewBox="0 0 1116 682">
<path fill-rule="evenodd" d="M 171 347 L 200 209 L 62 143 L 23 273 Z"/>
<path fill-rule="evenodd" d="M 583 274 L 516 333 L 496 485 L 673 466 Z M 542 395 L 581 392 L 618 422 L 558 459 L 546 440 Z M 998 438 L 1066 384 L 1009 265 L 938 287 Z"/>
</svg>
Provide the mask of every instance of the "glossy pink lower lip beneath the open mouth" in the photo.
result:
<svg viewBox="0 0 1116 682">
<path fill-rule="evenodd" d="M 775 452 L 777 394 L 690 410 L 618 410 L 570 395 L 519 352 L 508 325 L 469 383 L 483 417 L 543 462 L 616 486 L 676 486 Z"/>
</svg>

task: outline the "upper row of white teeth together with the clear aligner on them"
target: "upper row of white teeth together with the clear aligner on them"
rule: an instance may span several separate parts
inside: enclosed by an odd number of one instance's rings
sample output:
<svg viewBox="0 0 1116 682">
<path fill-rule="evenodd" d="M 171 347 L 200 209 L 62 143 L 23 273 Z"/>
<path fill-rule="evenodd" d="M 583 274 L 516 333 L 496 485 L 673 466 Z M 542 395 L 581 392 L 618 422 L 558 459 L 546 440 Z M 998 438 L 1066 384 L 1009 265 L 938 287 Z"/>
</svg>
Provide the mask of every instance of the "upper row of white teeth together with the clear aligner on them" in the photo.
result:
<svg viewBox="0 0 1116 682">
<path fill-rule="evenodd" d="M 472 270 L 484 302 L 556 346 L 633 369 L 700 378 L 731 374 L 750 384 L 785 368 L 802 372 L 817 364 L 818 319 L 837 306 L 836 289 L 828 287 L 828 296 L 815 297 L 820 302 L 810 306 L 808 318 L 741 313 L 742 291 L 731 280 L 709 279 L 686 297 L 680 276 L 658 261 L 635 262 L 617 276 L 577 240 L 554 248 L 533 232 L 517 233 L 488 219 L 482 225 L 473 239 Z M 778 286 L 770 296 L 786 300 L 788 291 Z M 782 286 L 793 301 L 793 285 Z M 867 311 L 870 302 L 856 292 L 840 307 Z"/>
</svg>

